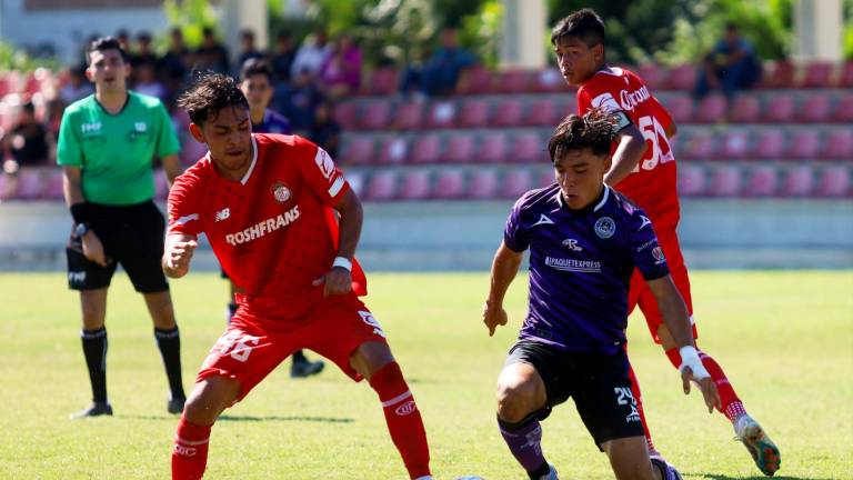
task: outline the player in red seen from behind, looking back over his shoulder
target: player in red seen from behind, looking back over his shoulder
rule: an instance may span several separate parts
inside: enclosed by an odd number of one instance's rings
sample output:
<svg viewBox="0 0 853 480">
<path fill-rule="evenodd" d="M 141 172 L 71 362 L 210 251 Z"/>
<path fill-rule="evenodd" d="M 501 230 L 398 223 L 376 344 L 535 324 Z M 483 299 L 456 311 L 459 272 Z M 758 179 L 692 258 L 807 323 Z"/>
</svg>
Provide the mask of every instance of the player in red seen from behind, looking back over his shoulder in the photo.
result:
<svg viewBox="0 0 853 480">
<path fill-rule="evenodd" d="M 608 66 L 604 41 L 604 24 L 590 9 L 579 10 L 560 20 L 551 33 L 551 43 L 563 78 L 569 84 L 578 87 L 578 112 L 583 114 L 592 108 L 605 107 L 620 118 L 621 130 L 612 151 L 613 167 L 604 180 L 649 214 L 670 264 L 672 278 L 688 306 L 695 338 L 690 279 L 675 232 L 680 207 L 675 188 L 675 157 L 669 142 L 676 132 L 675 122 L 640 77 L 629 70 Z M 629 311 L 636 306 L 643 312 L 654 341 L 663 347 L 666 357 L 678 368 L 681 358 L 672 336 L 663 323 L 654 296 L 640 272 L 634 270 Z M 732 422 L 737 438 L 750 451 L 759 469 L 772 476 L 779 469 L 779 449 L 746 413 L 720 364 L 705 352 L 700 351 L 700 357 L 720 391 L 720 411 Z M 631 374 L 634 397 L 641 402 L 633 370 Z M 642 409 L 640 411 L 642 416 Z M 646 440 L 652 454 L 656 454 L 648 428 Z"/>
</svg>

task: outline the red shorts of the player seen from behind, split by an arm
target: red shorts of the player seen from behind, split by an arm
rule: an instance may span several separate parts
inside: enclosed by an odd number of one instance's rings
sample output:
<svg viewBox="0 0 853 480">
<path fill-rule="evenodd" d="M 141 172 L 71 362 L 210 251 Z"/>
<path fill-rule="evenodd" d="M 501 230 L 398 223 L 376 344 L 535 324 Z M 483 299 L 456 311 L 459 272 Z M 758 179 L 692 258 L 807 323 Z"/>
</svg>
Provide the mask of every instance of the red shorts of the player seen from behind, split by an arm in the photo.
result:
<svg viewBox="0 0 853 480">
<path fill-rule="evenodd" d="M 693 300 L 690 296 L 690 277 L 688 276 L 688 267 L 684 264 L 684 257 L 681 254 L 681 246 L 679 246 L 679 236 L 674 229 L 658 231 L 658 243 L 663 250 L 663 256 L 666 258 L 666 264 L 670 268 L 670 274 L 672 281 L 675 283 L 675 288 L 679 289 L 681 297 L 684 299 L 684 303 L 688 304 L 688 313 L 690 314 L 690 323 L 693 327 L 693 338 L 699 338 L 696 332 L 696 323 L 693 321 Z M 645 323 L 649 326 L 649 332 L 652 334 L 655 343 L 661 343 L 661 339 L 658 338 L 658 327 L 663 324 L 663 317 L 658 309 L 658 301 L 654 299 L 654 294 L 645 283 L 645 279 L 640 273 L 640 270 L 634 269 L 634 274 L 631 277 L 631 288 L 628 292 L 628 312 L 634 311 L 634 307 L 640 306 L 640 310 L 645 317 Z"/>
</svg>

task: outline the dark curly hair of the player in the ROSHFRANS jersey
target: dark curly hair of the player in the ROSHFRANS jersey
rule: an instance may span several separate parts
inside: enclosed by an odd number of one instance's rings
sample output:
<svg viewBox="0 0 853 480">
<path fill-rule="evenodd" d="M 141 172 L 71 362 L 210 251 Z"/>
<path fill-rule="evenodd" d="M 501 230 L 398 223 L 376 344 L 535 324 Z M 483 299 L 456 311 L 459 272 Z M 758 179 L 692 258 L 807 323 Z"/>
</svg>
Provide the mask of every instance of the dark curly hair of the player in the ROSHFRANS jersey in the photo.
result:
<svg viewBox="0 0 853 480">
<path fill-rule="evenodd" d="M 249 110 L 249 102 L 233 78 L 207 72 L 178 98 L 178 107 L 187 110 L 190 121 L 202 126 L 205 121 L 217 118 L 225 108 L 240 107 Z"/>
</svg>

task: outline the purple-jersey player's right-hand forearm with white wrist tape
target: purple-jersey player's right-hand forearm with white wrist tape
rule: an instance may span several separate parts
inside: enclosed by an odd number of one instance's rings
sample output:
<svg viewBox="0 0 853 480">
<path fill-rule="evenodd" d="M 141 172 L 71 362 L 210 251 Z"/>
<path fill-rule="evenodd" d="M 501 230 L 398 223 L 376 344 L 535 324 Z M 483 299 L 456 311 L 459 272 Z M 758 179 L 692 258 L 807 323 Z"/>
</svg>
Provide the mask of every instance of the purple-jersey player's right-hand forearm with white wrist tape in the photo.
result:
<svg viewBox="0 0 853 480">
<path fill-rule="evenodd" d="M 696 382 L 700 390 L 702 390 L 702 397 L 705 399 L 705 406 L 708 406 L 710 413 L 714 410 L 714 407 L 720 406 L 720 393 L 716 391 L 716 386 L 708 370 L 705 370 L 705 367 L 702 366 L 702 361 L 699 359 L 684 299 L 681 298 L 681 293 L 679 293 L 670 276 L 650 280 L 646 283 L 655 300 L 658 300 L 658 308 L 661 310 L 663 322 L 672 333 L 675 344 L 679 346 L 679 352 L 681 353 L 681 367 L 679 367 L 679 370 L 681 371 L 684 394 L 690 393 L 690 381 Z"/>
</svg>

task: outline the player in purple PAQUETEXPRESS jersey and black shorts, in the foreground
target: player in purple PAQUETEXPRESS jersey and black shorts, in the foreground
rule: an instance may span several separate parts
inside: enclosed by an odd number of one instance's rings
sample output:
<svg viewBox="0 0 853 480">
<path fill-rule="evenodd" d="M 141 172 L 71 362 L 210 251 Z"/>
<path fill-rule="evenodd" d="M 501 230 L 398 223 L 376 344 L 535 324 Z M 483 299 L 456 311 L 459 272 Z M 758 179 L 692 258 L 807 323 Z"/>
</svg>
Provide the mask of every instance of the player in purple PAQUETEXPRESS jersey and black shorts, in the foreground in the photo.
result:
<svg viewBox="0 0 853 480">
<path fill-rule="evenodd" d="M 720 402 L 651 221 L 604 184 L 614 136 L 615 119 L 601 109 L 560 123 L 548 146 L 556 183 L 515 203 L 492 264 L 483 307 L 490 336 L 506 324 L 503 298 L 530 249 L 530 309 L 498 379 L 498 423 L 531 479 L 556 479 L 542 453 L 540 420 L 569 397 L 618 479 L 681 478 L 650 460 L 631 393 L 623 344 L 634 268 L 681 348 L 684 393 L 692 380 L 709 411 Z"/>
</svg>

